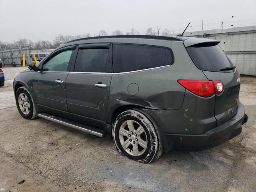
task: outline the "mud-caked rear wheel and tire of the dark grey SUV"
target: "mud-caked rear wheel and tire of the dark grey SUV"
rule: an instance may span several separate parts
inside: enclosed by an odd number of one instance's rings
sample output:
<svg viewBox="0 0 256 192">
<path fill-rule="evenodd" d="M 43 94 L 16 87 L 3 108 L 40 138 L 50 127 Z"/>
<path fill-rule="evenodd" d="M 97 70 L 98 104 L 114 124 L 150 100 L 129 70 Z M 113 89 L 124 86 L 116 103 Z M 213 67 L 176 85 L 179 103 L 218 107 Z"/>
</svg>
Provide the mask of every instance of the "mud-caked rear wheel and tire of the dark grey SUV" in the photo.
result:
<svg viewBox="0 0 256 192">
<path fill-rule="evenodd" d="M 162 155 L 159 128 L 142 110 L 127 110 L 118 115 L 112 134 L 118 152 L 132 160 L 152 163 Z"/>
</svg>

